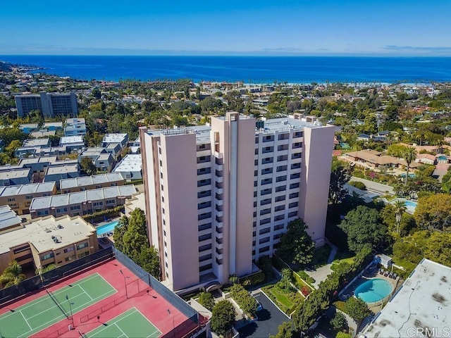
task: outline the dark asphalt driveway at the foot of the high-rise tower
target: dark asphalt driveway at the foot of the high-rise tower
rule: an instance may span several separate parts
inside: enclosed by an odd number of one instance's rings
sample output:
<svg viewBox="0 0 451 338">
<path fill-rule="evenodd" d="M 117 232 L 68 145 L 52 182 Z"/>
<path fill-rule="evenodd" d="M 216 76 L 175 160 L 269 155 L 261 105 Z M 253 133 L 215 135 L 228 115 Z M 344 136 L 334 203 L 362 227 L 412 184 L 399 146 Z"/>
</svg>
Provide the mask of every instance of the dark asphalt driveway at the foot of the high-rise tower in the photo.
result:
<svg viewBox="0 0 451 338">
<path fill-rule="evenodd" d="M 238 329 L 240 337 L 268 338 L 271 334 L 277 334 L 280 324 L 291 321 L 263 292 L 255 293 L 254 297 L 261 303 L 263 310 L 257 312 L 259 319 L 256 322 Z"/>
</svg>

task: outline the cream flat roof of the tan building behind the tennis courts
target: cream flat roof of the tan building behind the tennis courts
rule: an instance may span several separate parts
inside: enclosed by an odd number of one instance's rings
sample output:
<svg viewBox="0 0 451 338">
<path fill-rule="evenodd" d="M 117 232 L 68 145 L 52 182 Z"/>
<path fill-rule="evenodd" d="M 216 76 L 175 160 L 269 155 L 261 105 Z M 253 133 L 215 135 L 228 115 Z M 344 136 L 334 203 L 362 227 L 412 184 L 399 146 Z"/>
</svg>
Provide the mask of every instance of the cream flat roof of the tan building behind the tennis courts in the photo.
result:
<svg viewBox="0 0 451 338">
<path fill-rule="evenodd" d="M 0 254 L 9 252 L 13 246 L 25 243 L 32 244 L 39 252 L 55 250 L 80 242 L 94 232 L 96 232 L 95 227 L 78 216 L 35 218 L 23 223 L 23 227 L 18 230 L 0 234 Z M 52 236 L 57 237 L 60 242 L 55 243 Z"/>
</svg>

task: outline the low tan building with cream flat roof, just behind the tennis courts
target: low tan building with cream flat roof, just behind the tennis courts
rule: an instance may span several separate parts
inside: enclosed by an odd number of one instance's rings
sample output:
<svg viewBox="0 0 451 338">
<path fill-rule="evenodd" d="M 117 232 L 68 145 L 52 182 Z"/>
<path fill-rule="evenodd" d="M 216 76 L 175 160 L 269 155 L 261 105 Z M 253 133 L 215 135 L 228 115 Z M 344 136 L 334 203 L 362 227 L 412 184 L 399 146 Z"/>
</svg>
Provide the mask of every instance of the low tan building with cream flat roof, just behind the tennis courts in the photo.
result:
<svg viewBox="0 0 451 338">
<path fill-rule="evenodd" d="M 81 217 L 37 218 L 0 234 L 0 271 L 11 261 L 24 268 L 61 266 L 98 250 L 95 227 Z"/>
</svg>

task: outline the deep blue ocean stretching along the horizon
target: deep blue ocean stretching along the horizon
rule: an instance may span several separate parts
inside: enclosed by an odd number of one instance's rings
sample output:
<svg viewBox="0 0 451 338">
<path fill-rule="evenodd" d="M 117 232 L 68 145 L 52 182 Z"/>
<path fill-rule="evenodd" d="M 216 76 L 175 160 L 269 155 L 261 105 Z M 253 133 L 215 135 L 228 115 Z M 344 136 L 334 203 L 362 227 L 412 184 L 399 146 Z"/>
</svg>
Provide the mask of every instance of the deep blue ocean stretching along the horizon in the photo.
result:
<svg viewBox="0 0 451 338">
<path fill-rule="evenodd" d="M 80 80 L 177 80 L 245 83 L 449 82 L 450 57 L 342 56 L 0 56 L 46 68 L 35 73 Z"/>
</svg>

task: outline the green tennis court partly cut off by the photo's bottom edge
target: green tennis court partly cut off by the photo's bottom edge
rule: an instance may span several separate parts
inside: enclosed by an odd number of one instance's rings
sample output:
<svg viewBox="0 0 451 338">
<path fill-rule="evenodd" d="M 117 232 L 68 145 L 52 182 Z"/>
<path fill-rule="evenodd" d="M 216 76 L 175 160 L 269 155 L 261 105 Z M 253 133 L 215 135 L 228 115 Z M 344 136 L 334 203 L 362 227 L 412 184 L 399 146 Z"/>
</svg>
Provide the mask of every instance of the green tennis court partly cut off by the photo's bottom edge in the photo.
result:
<svg viewBox="0 0 451 338">
<path fill-rule="evenodd" d="M 150 338 L 161 334 L 137 308 L 130 308 L 108 323 L 85 334 L 87 338 Z"/>
</svg>

